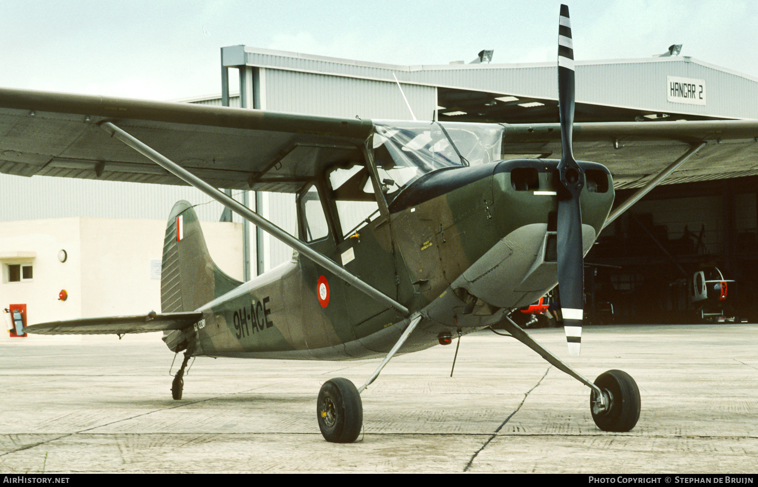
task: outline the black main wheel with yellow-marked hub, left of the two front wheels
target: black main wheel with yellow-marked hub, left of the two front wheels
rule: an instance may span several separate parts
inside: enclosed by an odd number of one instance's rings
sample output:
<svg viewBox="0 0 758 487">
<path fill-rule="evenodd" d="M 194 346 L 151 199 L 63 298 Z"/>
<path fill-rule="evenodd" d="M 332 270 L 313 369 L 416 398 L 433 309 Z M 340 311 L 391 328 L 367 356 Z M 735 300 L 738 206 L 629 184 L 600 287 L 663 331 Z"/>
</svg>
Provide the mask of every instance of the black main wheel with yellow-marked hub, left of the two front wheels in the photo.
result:
<svg viewBox="0 0 758 487">
<path fill-rule="evenodd" d="M 363 403 L 356 386 L 342 377 L 325 382 L 318 392 L 316 415 L 327 442 L 355 442 L 363 426 Z"/>
</svg>

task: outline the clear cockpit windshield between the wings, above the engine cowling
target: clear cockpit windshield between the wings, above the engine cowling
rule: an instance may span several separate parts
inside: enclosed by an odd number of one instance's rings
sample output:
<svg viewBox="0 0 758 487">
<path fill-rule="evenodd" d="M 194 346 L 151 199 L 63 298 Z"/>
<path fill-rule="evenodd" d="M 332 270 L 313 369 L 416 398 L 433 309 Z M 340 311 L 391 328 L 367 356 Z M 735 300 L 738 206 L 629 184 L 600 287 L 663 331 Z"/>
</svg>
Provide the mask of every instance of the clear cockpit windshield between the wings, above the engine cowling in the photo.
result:
<svg viewBox="0 0 758 487">
<path fill-rule="evenodd" d="M 424 174 L 500 159 L 503 126 L 374 120 L 374 163 L 387 203 Z"/>
</svg>

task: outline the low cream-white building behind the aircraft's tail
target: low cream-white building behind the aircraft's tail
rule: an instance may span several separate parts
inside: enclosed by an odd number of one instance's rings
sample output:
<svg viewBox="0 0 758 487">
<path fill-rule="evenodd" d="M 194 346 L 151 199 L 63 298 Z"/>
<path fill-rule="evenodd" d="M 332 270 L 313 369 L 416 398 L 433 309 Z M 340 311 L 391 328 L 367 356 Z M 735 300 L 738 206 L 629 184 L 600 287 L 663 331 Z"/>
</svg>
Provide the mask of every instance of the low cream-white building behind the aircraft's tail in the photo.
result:
<svg viewBox="0 0 758 487">
<path fill-rule="evenodd" d="M 242 279 L 242 225 L 201 225 L 218 266 Z M 160 311 L 165 229 L 127 218 L 3 222 L 0 307 L 26 304 L 27 324 Z"/>
</svg>

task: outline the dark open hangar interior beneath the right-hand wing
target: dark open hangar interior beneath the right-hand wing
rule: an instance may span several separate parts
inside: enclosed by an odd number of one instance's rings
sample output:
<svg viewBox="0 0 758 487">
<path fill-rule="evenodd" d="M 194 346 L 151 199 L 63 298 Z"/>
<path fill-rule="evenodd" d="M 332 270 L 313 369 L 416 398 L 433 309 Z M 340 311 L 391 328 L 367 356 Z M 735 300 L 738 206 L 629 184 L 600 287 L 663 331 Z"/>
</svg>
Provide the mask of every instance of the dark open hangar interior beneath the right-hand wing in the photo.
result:
<svg viewBox="0 0 758 487">
<path fill-rule="evenodd" d="M 633 192 L 617 190 L 616 202 Z M 616 323 L 701 322 L 697 273 L 707 278 L 716 268 L 725 282 L 716 307 L 758 322 L 756 200 L 758 176 L 653 189 L 603 230 L 585 258 L 593 264 L 585 268 L 590 320 L 607 323 L 611 304 Z"/>
</svg>

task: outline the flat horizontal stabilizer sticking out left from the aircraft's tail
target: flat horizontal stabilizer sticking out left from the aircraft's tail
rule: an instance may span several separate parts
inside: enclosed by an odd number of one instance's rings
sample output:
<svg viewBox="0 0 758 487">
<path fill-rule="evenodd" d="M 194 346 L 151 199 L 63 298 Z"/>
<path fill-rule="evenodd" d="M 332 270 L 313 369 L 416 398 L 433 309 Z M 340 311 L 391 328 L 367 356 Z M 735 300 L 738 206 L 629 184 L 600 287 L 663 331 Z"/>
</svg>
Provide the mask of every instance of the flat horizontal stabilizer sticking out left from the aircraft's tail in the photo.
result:
<svg viewBox="0 0 758 487">
<path fill-rule="evenodd" d="M 115 333 L 147 333 L 171 329 L 184 329 L 202 319 L 199 311 L 182 313 L 155 313 L 130 317 L 82 318 L 80 320 L 51 321 L 27 326 L 25 333 L 38 335 L 105 335 Z"/>
</svg>

